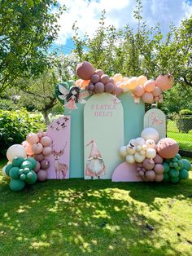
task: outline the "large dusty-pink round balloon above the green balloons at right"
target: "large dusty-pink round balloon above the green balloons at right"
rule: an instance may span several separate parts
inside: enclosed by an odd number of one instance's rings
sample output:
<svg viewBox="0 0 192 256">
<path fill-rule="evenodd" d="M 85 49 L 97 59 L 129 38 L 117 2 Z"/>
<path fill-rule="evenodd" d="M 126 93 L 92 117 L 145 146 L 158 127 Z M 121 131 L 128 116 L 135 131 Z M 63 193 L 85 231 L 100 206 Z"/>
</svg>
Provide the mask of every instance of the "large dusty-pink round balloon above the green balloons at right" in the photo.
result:
<svg viewBox="0 0 192 256">
<path fill-rule="evenodd" d="M 172 158 L 179 152 L 179 146 L 174 139 L 164 138 L 160 139 L 157 144 L 157 152 L 163 158 Z"/>
</svg>

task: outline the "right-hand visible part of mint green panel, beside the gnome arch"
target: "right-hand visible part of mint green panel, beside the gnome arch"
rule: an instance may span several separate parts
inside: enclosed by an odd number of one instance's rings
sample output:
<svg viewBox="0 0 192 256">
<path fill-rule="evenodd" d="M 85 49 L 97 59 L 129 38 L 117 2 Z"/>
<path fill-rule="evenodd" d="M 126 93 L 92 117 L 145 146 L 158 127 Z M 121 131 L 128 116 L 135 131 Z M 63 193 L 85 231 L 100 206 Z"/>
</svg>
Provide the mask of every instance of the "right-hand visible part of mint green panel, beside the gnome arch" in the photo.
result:
<svg viewBox="0 0 192 256">
<path fill-rule="evenodd" d="M 135 104 L 133 97 L 129 93 L 124 93 L 118 98 L 124 108 L 124 144 L 130 139 L 140 137 L 143 130 L 143 117 L 145 115 L 145 104 Z"/>
</svg>

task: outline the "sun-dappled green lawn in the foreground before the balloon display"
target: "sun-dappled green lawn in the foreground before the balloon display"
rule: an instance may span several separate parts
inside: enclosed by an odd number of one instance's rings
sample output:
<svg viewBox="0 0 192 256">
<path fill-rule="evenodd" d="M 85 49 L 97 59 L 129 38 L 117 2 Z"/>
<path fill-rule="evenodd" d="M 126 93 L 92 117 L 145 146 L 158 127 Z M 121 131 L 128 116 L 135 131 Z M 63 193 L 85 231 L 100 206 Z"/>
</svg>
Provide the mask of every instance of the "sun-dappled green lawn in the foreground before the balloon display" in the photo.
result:
<svg viewBox="0 0 192 256">
<path fill-rule="evenodd" d="M 0 201 L 3 256 L 192 252 L 192 179 L 179 184 L 48 180 L 11 192 L 8 179 L 0 176 Z"/>
</svg>

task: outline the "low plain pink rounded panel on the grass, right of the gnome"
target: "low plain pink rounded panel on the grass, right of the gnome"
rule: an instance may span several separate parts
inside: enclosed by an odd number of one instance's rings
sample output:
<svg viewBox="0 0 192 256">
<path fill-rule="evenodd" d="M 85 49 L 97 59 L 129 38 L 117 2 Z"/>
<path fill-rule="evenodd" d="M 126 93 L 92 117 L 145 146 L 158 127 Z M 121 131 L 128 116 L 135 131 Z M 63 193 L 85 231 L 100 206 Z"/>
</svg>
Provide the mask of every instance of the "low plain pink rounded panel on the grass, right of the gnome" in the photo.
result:
<svg viewBox="0 0 192 256">
<path fill-rule="evenodd" d="M 137 177 L 137 164 L 124 162 L 116 167 L 112 174 L 113 182 L 138 182 L 142 179 Z"/>
</svg>

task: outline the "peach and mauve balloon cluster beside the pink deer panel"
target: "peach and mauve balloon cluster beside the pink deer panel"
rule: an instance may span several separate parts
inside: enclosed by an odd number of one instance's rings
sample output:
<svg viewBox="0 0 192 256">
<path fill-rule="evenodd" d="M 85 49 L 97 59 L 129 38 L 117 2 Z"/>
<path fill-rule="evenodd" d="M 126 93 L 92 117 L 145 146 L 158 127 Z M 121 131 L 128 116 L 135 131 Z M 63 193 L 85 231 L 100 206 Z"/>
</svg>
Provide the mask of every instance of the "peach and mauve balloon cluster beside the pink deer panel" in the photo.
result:
<svg viewBox="0 0 192 256">
<path fill-rule="evenodd" d="M 47 178 L 47 169 L 50 161 L 46 159 L 51 153 L 51 139 L 46 132 L 38 131 L 37 134 L 29 133 L 22 143 L 28 156 L 33 156 L 37 161 L 36 173 L 38 181 L 42 182 Z"/>
</svg>

